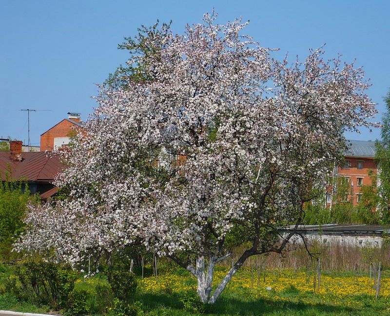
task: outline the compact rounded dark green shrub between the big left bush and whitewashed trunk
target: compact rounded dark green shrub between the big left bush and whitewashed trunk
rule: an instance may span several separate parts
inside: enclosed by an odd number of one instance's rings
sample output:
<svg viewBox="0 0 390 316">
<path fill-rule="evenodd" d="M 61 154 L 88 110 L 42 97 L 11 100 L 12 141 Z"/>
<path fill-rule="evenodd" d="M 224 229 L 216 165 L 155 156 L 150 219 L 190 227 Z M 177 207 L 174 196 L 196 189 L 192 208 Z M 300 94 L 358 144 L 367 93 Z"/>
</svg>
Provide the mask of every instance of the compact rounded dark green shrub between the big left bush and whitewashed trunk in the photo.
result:
<svg viewBox="0 0 390 316">
<path fill-rule="evenodd" d="M 135 274 L 129 271 L 111 270 L 107 273 L 107 279 L 115 297 L 122 301 L 129 301 L 137 289 Z"/>
</svg>

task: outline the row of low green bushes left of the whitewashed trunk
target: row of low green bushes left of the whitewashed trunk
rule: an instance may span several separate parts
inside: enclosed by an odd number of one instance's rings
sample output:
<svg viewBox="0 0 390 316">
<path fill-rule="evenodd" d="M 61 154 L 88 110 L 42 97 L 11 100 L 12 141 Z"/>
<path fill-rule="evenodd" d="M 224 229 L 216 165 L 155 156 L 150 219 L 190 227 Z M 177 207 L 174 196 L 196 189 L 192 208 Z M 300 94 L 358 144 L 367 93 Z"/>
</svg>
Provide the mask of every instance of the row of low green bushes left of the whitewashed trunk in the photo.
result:
<svg viewBox="0 0 390 316">
<path fill-rule="evenodd" d="M 1 266 L 0 266 L 1 267 Z M 7 269 L 2 267 L 4 276 Z M 13 269 L 5 278 L 0 294 L 12 294 L 19 301 L 46 305 L 66 315 L 149 316 L 152 311 L 135 300 L 137 279 L 129 271 L 106 269 L 91 282 L 80 282 L 78 273 L 70 266 L 28 261 Z M 166 293 L 165 293 L 166 294 Z M 195 293 L 184 293 L 179 298 L 191 312 L 203 313 L 205 306 Z M 152 313 L 152 314 L 151 314 Z"/>
</svg>

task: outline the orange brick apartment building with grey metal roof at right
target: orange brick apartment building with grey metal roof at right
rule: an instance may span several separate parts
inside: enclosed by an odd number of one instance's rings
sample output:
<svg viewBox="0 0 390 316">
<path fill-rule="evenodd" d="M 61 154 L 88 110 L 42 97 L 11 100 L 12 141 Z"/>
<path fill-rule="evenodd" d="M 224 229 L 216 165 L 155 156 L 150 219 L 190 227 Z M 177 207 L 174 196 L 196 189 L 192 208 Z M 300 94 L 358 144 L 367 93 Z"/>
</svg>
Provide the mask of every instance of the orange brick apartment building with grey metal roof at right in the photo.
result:
<svg viewBox="0 0 390 316">
<path fill-rule="evenodd" d="M 350 190 L 343 201 L 359 204 L 362 199 L 360 191 L 362 186 L 371 185 L 369 172 L 377 173 L 377 166 L 374 162 L 375 142 L 348 140 L 349 151 L 345 154 L 345 164 L 335 168 L 335 176 L 345 177 L 348 180 Z M 330 206 L 332 194 L 327 193 L 326 204 Z"/>
</svg>

